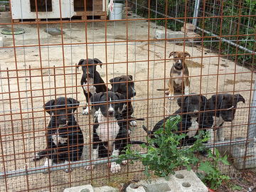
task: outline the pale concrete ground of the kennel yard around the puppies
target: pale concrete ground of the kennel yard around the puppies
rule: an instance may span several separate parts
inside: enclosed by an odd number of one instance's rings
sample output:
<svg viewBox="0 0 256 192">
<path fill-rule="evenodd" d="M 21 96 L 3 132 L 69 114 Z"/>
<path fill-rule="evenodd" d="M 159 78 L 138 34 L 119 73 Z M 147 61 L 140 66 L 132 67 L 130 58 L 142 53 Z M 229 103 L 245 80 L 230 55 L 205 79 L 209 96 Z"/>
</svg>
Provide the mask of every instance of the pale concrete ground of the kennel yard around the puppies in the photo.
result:
<svg viewBox="0 0 256 192">
<path fill-rule="evenodd" d="M 125 13 L 124 13 L 125 14 Z M 129 13 L 129 19 L 141 18 Z M 0 30 L 10 27 L 9 12 L 1 12 Z M 245 105 L 239 103 L 235 121 L 235 128 L 225 131 L 225 137 L 246 137 L 248 106 L 252 96 L 255 74 L 239 63 L 219 56 L 215 50 L 203 47 L 201 44 L 184 44 L 183 41 L 158 41 L 155 39 L 156 30 L 164 30 L 144 18 L 137 21 L 95 21 L 85 23 L 53 23 L 53 24 L 15 24 L 23 28 L 25 33 L 16 36 L 3 35 L 4 48 L 0 48 L 1 70 L 1 105 L 0 121 L 1 133 L 8 135 L 3 138 L 2 149 L 9 160 L 3 164 L 0 172 L 14 171 L 42 166 L 45 159 L 34 162 L 33 151 L 44 149 L 45 119 L 50 119 L 43 112 L 43 104 L 55 97 L 66 95 L 80 101 L 78 108 L 78 122 L 85 136 L 85 151 L 83 159 L 90 159 L 90 131 L 93 117 L 82 116 L 85 96 L 80 87 L 81 69 L 76 70 L 76 63 L 82 58 L 98 58 L 102 60 L 102 68 L 97 70 L 105 82 L 119 75 L 133 75 L 137 95 L 134 97 L 134 117 L 145 118 L 132 131 L 132 138 L 145 141 L 145 132 L 141 129 L 145 124 L 152 129 L 154 124 L 164 113 L 174 112 L 178 106 L 176 100 L 170 101 L 164 92 L 156 91 L 167 87 L 166 78 L 172 61 L 168 58 L 173 50 L 186 50 L 191 58 L 186 60 L 191 75 L 191 92 L 207 94 L 210 97 L 215 92 L 238 91 L 245 97 Z M 60 28 L 65 32 L 63 36 L 51 36 L 45 28 Z M 38 46 L 41 45 L 41 46 Z M 63 46 L 64 45 L 64 46 Z M 14 46 L 16 47 L 14 49 Z M 26 47 L 26 48 L 23 48 Z M 65 68 L 63 68 L 65 67 Z M 110 84 L 107 87 L 111 87 Z M 178 93 L 180 95 L 181 93 Z M 31 126 L 31 118 L 37 117 Z M 15 119 L 13 124 L 9 120 Z M 23 126 L 21 126 L 21 119 Z M 231 123 L 230 123 L 231 124 Z M 228 127 L 230 124 L 226 124 Z M 35 134 L 33 134 L 35 132 Z M 11 135 L 14 134 L 14 138 Z M 12 142 L 14 141 L 14 142 Z M 14 150 L 15 149 L 15 150 Z M 26 156 L 24 152 L 26 151 Z M 16 154 L 16 155 L 15 155 Z M 8 168 L 8 169 L 7 169 Z M 227 168 L 229 169 L 229 168 Z M 102 171 L 104 170 L 104 171 Z M 70 175 L 64 171 L 36 176 L 21 176 L 7 178 L 1 183 L 1 188 L 8 186 L 9 191 L 23 191 L 26 188 L 38 188 L 39 191 L 61 191 L 63 188 L 80 186 L 91 181 L 95 185 L 106 185 L 108 182 L 107 165 L 97 166 L 94 171 L 85 171 L 82 167 L 75 169 Z M 139 171 L 142 166 L 122 167 L 126 171 Z M 132 174 L 134 178 L 142 178 L 143 174 Z M 116 176 L 110 176 L 112 181 Z M 17 184 L 14 184 L 15 183 Z M 28 186 L 27 184 L 28 183 Z M 51 184 L 51 187 L 49 186 Z"/>
</svg>

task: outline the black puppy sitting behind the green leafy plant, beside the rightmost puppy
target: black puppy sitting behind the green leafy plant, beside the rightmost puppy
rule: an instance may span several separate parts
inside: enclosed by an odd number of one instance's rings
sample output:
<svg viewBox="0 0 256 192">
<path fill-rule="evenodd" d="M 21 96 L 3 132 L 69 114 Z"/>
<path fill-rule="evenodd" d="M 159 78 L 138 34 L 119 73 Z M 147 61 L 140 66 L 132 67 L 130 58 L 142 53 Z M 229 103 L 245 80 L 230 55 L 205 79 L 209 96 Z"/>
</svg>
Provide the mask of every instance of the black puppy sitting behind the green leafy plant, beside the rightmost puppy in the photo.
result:
<svg viewBox="0 0 256 192">
<path fill-rule="evenodd" d="M 181 132 L 183 132 L 183 134 L 187 134 L 188 136 L 181 141 L 181 144 L 183 146 L 191 145 L 196 141 L 193 137 L 198 132 L 198 116 L 199 112 L 203 111 L 206 100 L 206 97 L 203 95 L 187 95 L 179 97 L 177 103 L 180 108 L 174 112 L 174 114 L 171 114 L 169 117 L 157 122 L 152 131 L 148 131 L 146 127 L 143 128 L 151 138 L 154 138 L 154 132 L 163 127 L 164 122 L 166 122 L 170 117 L 175 117 L 177 114 L 180 114 L 181 122 L 178 122 L 177 124 L 178 131 L 176 134 L 180 134 Z M 159 146 L 156 145 L 156 147 Z"/>
</svg>

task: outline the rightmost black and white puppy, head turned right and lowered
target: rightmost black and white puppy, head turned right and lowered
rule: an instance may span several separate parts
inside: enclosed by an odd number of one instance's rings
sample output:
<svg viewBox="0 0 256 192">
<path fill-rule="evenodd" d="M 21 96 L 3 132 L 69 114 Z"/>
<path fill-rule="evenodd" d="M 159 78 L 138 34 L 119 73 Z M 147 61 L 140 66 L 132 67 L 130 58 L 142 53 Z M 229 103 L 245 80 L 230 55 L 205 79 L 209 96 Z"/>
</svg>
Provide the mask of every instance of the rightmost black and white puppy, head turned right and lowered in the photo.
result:
<svg viewBox="0 0 256 192">
<path fill-rule="evenodd" d="M 216 127 L 216 135 L 218 142 L 223 142 L 223 123 L 232 122 L 235 117 L 235 110 L 238 102 L 245 103 L 244 97 L 240 94 L 231 95 L 228 93 L 212 95 L 206 102 L 206 109 L 203 113 L 203 120 L 201 120 L 201 127 L 214 128 Z M 209 129 L 210 140 L 214 140 L 214 130 Z"/>
</svg>

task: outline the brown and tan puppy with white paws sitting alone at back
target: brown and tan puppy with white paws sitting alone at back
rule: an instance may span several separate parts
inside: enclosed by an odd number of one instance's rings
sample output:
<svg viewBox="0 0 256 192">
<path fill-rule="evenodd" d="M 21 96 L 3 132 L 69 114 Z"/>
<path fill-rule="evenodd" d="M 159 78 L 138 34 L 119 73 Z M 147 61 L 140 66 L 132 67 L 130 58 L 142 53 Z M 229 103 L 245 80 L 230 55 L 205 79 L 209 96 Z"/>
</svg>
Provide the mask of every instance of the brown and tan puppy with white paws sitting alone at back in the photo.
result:
<svg viewBox="0 0 256 192">
<path fill-rule="evenodd" d="M 189 79 L 188 79 L 188 67 L 185 63 L 186 56 L 191 56 L 186 51 L 174 50 L 170 53 L 174 55 L 174 65 L 170 71 L 170 79 L 168 82 L 168 87 L 166 89 L 158 89 L 158 90 L 166 90 L 166 95 L 168 95 L 170 100 L 174 100 L 174 91 L 184 91 L 184 95 L 189 94 Z M 183 77 L 183 78 L 182 78 Z"/>
</svg>

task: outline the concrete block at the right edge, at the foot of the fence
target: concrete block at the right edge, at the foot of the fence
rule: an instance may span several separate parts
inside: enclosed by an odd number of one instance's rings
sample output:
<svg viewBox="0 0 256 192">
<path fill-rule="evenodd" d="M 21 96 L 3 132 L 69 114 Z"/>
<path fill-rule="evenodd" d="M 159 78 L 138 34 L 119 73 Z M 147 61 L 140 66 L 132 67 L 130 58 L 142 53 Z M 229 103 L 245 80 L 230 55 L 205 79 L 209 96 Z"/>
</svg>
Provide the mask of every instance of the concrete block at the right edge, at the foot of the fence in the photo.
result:
<svg viewBox="0 0 256 192">
<path fill-rule="evenodd" d="M 231 155 L 235 157 L 234 166 L 237 169 L 254 169 L 256 168 L 256 147 L 248 147 L 245 156 L 245 144 L 233 145 Z M 244 167 L 245 165 L 245 167 Z"/>
</svg>

